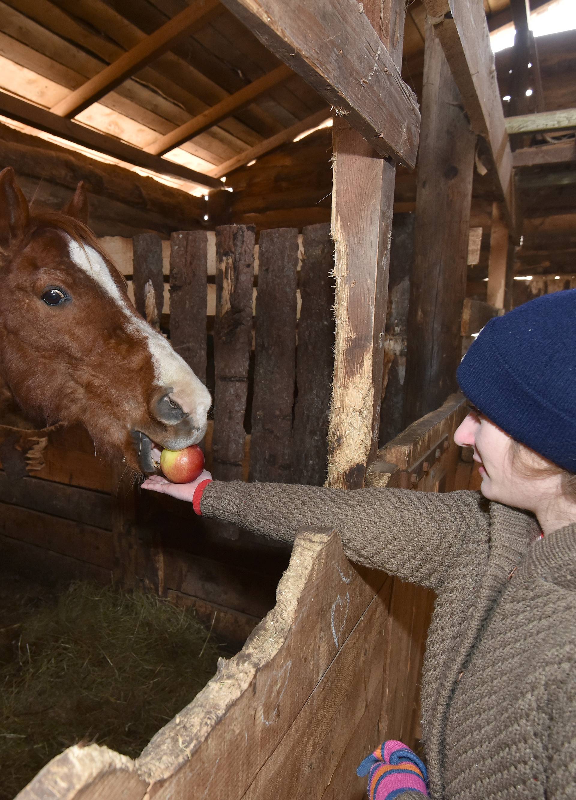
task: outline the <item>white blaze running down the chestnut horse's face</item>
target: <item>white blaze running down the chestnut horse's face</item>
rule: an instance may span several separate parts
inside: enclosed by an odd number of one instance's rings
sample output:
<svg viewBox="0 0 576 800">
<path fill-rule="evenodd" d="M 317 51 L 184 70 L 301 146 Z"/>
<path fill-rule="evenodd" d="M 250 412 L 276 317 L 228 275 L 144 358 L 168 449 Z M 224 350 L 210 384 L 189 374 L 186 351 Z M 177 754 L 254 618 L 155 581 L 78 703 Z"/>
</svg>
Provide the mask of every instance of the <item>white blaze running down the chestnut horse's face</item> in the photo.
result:
<svg viewBox="0 0 576 800">
<path fill-rule="evenodd" d="M 162 334 L 136 314 L 126 295 L 118 288 L 98 251 L 89 245 L 81 247 L 70 236 L 66 238 L 70 258 L 74 264 L 90 275 L 90 278 L 94 278 L 94 282 L 105 290 L 126 314 L 126 330 L 138 333 L 146 340 L 158 386 L 172 386 L 170 397 L 174 398 L 185 414 L 190 414 L 194 425 L 206 430 L 206 414 L 212 402 L 206 386 L 194 375 L 184 359 L 172 349 Z"/>
</svg>

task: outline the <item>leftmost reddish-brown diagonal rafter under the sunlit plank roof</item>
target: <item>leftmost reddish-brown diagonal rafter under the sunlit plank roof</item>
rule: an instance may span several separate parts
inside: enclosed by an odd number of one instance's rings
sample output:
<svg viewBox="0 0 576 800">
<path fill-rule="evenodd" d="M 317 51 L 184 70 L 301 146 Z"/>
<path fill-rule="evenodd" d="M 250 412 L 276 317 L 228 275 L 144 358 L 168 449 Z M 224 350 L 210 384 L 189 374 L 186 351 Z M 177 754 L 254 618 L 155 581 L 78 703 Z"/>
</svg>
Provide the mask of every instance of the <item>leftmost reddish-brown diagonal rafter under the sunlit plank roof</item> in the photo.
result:
<svg viewBox="0 0 576 800">
<path fill-rule="evenodd" d="M 106 66 L 102 72 L 94 75 L 94 78 L 78 86 L 78 89 L 68 97 L 56 103 L 51 111 L 59 117 L 75 117 L 114 90 L 126 78 L 130 78 L 142 67 L 150 64 L 154 58 L 170 50 L 178 39 L 205 25 L 221 9 L 218 0 L 195 0 L 191 6 L 187 6 L 180 14 L 166 22 L 166 25 L 142 39 L 142 42 L 138 42 L 131 50 Z"/>
</svg>

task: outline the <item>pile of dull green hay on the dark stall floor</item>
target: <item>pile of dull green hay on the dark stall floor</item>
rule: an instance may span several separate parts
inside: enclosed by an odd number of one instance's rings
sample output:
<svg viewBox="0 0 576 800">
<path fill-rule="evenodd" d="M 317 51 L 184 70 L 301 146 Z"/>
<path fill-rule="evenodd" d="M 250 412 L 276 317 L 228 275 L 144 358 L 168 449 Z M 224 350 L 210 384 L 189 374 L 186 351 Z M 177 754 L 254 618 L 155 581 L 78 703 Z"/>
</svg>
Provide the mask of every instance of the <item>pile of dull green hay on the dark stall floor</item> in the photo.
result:
<svg viewBox="0 0 576 800">
<path fill-rule="evenodd" d="M 148 594 L 75 582 L 46 607 L 16 601 L 22 627 L 0 650 L 0 800 L 78 742 L 138 756 L 216 670 L 194 614 Z"/>
</svg>

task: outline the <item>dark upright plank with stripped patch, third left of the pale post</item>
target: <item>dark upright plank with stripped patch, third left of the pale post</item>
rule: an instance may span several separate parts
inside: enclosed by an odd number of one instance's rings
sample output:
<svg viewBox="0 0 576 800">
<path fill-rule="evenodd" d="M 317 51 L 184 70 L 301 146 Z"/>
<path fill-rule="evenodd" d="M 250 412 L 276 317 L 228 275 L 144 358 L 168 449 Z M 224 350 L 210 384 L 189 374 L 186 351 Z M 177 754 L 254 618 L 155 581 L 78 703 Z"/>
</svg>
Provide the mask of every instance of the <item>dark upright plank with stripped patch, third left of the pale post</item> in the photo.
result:
<svg viewBox="0 0 576 800">
<path fill-rule="evenodd" d="M 254 227 L 216 229 L 214 318 L 214 477 L 240 481 L 246 446 L 244 416 L 252 350 Z M 266 249 L 265 249 L 266 260 Z"/>
</svg>

